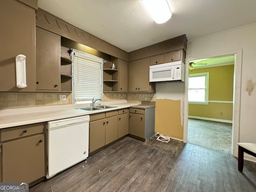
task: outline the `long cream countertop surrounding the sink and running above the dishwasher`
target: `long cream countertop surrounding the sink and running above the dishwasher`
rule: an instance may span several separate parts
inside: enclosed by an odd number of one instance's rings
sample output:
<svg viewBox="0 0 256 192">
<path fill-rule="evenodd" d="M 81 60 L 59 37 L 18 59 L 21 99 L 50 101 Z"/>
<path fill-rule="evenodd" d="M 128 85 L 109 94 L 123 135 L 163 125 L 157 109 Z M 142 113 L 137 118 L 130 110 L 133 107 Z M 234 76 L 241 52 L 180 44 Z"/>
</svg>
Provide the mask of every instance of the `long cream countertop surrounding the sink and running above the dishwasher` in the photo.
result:
<svg viewBox="0 0 256 192">
<path fill-rule="evenodd" d="M 88 104 L 72 104 L 63 106 L 46 106 L 0 110 L 0 128 L 8 128 L 13 126 L 90 115 L 98 112 L 118 110 L 122 108 L 128 108 L 133 105 L 138 105 L 138 103 L 129 103 L 126 100 L 120 100 L 113 102 L 101 102 L 101 105 L 112 105 L 116 107 L 110 109 L 84 111 L 79 110 L 78 108 L 86 107 L 88 106 Z"/>
</svg>

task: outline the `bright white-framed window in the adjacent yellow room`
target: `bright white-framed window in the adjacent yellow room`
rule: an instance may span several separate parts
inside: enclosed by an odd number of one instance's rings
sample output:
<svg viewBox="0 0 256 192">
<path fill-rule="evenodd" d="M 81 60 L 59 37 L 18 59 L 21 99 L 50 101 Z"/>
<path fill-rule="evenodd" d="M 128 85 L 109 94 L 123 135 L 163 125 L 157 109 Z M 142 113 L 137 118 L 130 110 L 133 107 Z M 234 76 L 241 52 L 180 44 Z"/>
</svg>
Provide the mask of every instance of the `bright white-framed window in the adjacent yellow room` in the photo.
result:
<svg viewBox="0 0 256 192">
<path fill-rule="evenodd" d="M 208 104 L 209 72 L 190 74 L 188 77 L 188 102 Z"/>
</svg>

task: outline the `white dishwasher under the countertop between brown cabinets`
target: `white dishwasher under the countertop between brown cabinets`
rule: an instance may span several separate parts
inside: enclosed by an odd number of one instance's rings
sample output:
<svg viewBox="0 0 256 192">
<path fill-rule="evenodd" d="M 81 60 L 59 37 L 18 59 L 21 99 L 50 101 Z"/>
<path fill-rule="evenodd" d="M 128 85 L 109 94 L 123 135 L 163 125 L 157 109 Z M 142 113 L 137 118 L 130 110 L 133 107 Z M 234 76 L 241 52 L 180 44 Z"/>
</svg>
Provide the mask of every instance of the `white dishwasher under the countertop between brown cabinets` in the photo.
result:
<svg viewBox="0 0 256 192">
<path fill-rule="evenodd" d="M 47 122 L 48 173 L 46 178 L 85 160 L 89 148 L 90 116 Z"/>
</svg>

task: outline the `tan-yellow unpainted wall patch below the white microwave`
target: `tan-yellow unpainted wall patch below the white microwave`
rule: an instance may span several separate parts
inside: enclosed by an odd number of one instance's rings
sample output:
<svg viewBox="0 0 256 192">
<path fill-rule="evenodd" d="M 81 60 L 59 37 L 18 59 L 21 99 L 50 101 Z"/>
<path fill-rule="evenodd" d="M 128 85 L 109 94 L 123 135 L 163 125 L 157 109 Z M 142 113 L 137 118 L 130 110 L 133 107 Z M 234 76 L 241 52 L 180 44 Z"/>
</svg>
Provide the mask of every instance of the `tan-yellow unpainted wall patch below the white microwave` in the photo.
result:
<svg viewBox="0 0 256 192">
<path fill-rule="evenodd" d="M 183 139 L 181 104 L 181 100 L 156 99 L 155 132 L 180 140 Z"/>
</svg>

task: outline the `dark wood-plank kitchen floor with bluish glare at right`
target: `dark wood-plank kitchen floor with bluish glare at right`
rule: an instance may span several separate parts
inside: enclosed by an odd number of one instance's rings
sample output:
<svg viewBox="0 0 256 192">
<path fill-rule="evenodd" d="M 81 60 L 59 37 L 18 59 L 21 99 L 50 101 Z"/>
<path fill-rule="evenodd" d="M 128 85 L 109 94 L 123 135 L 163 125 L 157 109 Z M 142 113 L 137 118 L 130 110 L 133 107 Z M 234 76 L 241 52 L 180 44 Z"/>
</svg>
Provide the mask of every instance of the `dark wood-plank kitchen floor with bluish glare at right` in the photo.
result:
<svg viewBox="0 0 256 192">
<path fill-rule="evenodd" d="M 256 163 L 230 153 L 156 138 L 126 137 L 30 192 L 255 192 Z"/>
</svg>

